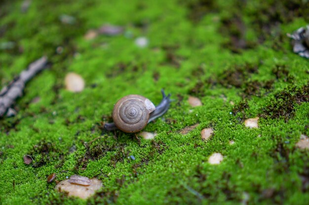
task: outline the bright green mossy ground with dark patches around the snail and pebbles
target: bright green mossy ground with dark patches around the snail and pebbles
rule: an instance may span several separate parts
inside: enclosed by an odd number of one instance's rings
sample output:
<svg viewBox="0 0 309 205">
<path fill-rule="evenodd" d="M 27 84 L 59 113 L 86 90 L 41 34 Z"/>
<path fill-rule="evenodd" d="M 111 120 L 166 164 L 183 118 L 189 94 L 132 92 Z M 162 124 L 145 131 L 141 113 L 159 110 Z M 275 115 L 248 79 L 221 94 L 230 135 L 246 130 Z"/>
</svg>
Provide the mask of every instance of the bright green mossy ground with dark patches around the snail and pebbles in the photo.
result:
<svg viewBox="0 0 309 205">
<path fill-rule="evenodd" d="M 0 203 L 308 204 L 309 151 L 295 144 L 309 135 L 309 61 L 285 35 L 306 25 L 308 1 L 32 0 L 27 12 L 21 0 L 0 3 L 1 87 L 42 55 L 50 61 L 17 116 L 0 119 Z M 61 23 L 63 14 L 75 23 Z M 126 31 L 84 39 L 104 23 Z M 82 92 L 65 90 L 68 72 L 84 78 Z M 145 128 L 154 140 L 102 129 L 119 98 L 158 104 L 161 88 L 175 101 Z M 203 106 L 191 108 L 189 95 Z M 250 117 L 259 128 L 244 126 Z M 214 129 L 207 142 L 205 127 Z M 207 163 L 213 152 L 225 156 L 220 165 Z M 86 201 L 68 198 L 46 182 L 51 173 L 98 177 L 104 187 Z"/>
</svg>

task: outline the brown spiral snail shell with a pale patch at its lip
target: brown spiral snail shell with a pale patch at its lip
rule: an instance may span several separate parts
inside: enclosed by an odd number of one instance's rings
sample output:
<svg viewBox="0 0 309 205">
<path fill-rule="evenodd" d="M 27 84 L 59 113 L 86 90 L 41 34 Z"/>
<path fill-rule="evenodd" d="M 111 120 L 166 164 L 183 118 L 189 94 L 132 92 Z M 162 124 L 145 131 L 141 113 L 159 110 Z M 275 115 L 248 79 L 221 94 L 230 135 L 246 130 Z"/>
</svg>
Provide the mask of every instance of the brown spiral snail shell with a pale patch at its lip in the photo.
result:
<svg viewBox="0 0 309 205">
<path fill-rule="evenodd" d="M 148 123 L 154 104 L 141 95 L 127 95 L 121 98 L 113 110 L 113 119 L 123 132 L 138 132 Z"/>
</svg>

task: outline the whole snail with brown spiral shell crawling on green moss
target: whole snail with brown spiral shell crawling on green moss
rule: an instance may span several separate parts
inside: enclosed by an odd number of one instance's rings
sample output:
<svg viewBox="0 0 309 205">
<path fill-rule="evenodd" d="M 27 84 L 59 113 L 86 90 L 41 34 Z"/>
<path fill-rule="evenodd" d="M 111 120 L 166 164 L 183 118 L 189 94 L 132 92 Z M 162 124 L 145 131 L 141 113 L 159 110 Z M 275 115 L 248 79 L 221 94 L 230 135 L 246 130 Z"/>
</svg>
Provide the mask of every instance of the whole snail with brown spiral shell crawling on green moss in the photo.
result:
<svg viewBox="0 0 309 205">
<path fill-rule="evenodd" d="M 142 130 L 149 122 L 164 115 L 170 105 L 171 94 L 162 92 L 162 100 L 158 106 L 141 95 L 127 95 L 118 100 L 113 110 L 112 123 L 105 123 L 108 131 L 120 129 L 123 132 L 134 133 Z"/>
</svg>

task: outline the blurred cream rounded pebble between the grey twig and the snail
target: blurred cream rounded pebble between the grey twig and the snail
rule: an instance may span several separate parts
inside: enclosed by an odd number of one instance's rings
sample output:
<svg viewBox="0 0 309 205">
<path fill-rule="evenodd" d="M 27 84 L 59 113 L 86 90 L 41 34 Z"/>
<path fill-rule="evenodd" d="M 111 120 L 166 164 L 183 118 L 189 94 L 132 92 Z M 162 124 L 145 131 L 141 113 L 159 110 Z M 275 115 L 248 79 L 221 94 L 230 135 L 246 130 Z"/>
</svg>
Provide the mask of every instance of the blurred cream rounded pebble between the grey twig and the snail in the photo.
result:
<svg viewBox="0 0 309 205">
<path fill-rule="evenodd" d="M 76 73 L 68 73 L 65 78 L 66 89 L 72 92 L 80 92 L 85 88 L 83 78 Z"/>
</svg>

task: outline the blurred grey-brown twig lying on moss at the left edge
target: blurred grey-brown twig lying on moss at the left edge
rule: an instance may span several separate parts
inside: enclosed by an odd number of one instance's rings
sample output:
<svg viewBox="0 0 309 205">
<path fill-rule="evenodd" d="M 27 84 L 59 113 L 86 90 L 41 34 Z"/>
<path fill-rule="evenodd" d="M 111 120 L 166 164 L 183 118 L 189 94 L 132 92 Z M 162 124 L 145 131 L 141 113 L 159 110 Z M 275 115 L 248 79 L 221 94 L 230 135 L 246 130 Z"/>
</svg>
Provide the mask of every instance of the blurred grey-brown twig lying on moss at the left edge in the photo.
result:
<svg viewBox="0 0 309 205">
<path fill-rule="evenodd" d="M 23 70 L 20 75 L 4 87 L 0 91 L 0 117 L 14 104 L 18 97 L 21 97 L 25 84 L 32 79 L 39 71 L 44 69 L 47 64 L 47 57 L 34 61 L 26 70 Z"/>
</svg>

